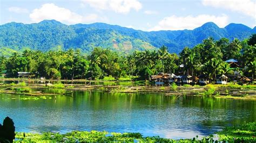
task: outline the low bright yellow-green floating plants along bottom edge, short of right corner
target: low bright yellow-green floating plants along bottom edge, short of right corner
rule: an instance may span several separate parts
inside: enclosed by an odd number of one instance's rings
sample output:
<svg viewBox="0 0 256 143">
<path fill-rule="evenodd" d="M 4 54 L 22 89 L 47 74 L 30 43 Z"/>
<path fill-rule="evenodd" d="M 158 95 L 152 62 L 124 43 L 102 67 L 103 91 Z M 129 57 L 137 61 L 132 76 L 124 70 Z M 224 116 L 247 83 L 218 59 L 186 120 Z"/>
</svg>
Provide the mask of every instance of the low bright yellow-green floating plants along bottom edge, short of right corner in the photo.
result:
<svg viewBox="0 0 256 143">
<path fill-rule="evenodd" d="M 109 135 L 111 134 L 111 135 Z M 25 136 L 25 137 L 24 137 Z M 198 140 L 193 139 L 166 139 L 160 138 L 159 136 L 154 137 L 143 137 L 140 133 L 108 133 L 106 131 L 72 131 L 65 134 L 60 133 L 43 133 L 43 134 L 32 134 L 32 133 L 16 133 L 15 142 L 201 142 L 201 141 L 213 141 L 213 136 Z"/>
</svg>

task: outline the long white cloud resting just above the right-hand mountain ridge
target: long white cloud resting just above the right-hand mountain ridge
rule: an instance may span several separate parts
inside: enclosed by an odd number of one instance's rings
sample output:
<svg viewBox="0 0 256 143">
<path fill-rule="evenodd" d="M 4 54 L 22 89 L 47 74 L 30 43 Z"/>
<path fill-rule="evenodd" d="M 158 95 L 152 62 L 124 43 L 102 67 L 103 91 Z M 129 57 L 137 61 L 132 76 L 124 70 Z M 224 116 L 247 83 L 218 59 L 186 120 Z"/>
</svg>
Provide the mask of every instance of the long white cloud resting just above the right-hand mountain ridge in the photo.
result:
<svg viewBox="0 0 256 143">
<path fill-rule="evenodd" d="M 228 17 L 226 15 L 212 16 L 212 15 L 198 15 L 177 17 L 175 15 L 170 17 L 165 17 L 161 20 L 157 26 L 154 26 L 149 31 L 159 31 L 159 30 L 192 30 L 199 27 L 207 22 L 214 22 L 220 27 L 224 27 L 228 23 Z"/>
</svg>

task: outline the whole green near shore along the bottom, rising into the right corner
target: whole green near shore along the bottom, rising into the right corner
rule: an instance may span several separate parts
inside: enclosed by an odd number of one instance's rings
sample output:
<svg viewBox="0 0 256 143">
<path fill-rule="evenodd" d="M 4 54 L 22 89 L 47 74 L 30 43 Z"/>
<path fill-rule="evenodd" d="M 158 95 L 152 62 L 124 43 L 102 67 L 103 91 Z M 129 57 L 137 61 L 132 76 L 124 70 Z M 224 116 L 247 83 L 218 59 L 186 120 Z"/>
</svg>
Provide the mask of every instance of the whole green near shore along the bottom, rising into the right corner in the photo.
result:
<svg viewBox="0 0 256 143">
<path fill-rule="evenodd" d="M 16 133 L 15 142 L 256 142 L 256 122 L 243 124 L 236 127 L 226 127 L 217 132 L 218 140 L 213 135 L 198 139 L 173 140 L 160 137 L 143 137 L 140 133 L 108 133 L 106 131 L 72 131 L 65 134 L 59 133 Z"/>
</svg>

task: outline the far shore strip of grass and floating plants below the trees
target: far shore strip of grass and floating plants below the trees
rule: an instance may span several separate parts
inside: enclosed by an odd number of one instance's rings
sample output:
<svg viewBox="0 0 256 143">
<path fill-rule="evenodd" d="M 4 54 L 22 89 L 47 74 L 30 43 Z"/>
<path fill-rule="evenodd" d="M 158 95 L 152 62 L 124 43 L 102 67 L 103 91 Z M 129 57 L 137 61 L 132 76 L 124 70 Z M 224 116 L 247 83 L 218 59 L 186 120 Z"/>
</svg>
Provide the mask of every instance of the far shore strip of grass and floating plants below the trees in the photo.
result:
<svg viewBox="0 0 256 143">
<path fill-rule="evenodd" d="M 61 82 L 56 84 L 42 84 L 42 83 L 25 83 L 19 82 L 17 84 L 0 84 L 0 93 L 19 94 L 30 96 L 45 96 L 54 94 L 67 94 L 72 91 L 87 91 L 97 90 L 102 92 L 121 92 L 121 93 L 139 93 L 139 94 L 164 94 L 166 96 L 204 96 L 213 98 L 234 98 L 234 99 L 256 99 L 256 85 L 238 85 L 238 84 L 207 84 L 204 86 L 188 85 L 177 86 L 170 84 L 169 86 L 159 85 L 113 85 L 113 84 L 63 84 Z M 31 92 L 29 89 L 38 91 Z M 41 90 L 58 89 L 59 92 L 43 93 Z M 61 91 L 60 91 L 61 90 Z"/>
</svg>

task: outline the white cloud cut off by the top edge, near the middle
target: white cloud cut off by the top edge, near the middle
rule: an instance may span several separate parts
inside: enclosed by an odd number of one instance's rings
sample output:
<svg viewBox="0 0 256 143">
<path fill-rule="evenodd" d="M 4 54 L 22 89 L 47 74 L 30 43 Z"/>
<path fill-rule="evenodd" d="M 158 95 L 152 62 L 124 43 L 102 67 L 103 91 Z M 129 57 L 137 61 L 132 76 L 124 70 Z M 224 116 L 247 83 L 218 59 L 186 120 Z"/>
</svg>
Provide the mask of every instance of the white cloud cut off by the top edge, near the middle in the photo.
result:
<svg viewBox="0 0 256 143">
<path fill-rule="evenodd" d="M 117 13 L 129 13 L 131 9 L 142 9 L 142 4 L 137 0 L 82 0 L 92 8 L 99 10 L 112 10 Z"/>
</svg>

